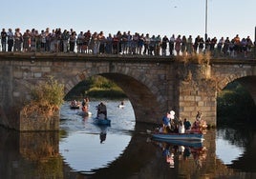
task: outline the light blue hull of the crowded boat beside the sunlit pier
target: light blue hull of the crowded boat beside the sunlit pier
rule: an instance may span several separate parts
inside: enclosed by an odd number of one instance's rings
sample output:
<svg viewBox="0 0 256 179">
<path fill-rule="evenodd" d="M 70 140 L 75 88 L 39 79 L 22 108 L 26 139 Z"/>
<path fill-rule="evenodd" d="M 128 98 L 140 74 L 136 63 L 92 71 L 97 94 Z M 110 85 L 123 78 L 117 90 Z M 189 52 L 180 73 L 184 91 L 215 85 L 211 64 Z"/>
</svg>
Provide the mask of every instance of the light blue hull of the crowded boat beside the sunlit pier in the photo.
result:
<svg viewBox="0 0 256 179">
<path fill-rule="evenodd" d="M 203 141 L 203 133 L 152 133 L 153 139 L 159 139 L 161 141 Z"/>
</svg>

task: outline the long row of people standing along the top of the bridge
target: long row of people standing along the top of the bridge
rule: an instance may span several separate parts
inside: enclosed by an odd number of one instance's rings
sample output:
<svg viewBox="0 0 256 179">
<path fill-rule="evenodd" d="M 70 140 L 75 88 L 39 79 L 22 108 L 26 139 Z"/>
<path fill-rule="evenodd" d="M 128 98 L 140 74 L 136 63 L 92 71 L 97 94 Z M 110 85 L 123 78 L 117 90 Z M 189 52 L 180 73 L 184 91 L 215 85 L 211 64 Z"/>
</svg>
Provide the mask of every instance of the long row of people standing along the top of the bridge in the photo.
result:
<svg viewBox="0 0 256 179">
<path fill-rule="evenodd" d="M 254 47 L 249 36 L 241 38 L 238 34 L 230 38 L 208 37 L 200 35 L 150 35 L 149 33 L 131 33 L 130 30 L 117 31 L 114 35 L 105 35 L 103 31 L 91 32 L 75 30 L 15 30 L 1 31 L 1 51 L 32 52 L 77 52 L 92 54 L 130 54 L 130 55 L 189 55 L 205 51 L 211 54 L 247 57 Z"/>
</svg>

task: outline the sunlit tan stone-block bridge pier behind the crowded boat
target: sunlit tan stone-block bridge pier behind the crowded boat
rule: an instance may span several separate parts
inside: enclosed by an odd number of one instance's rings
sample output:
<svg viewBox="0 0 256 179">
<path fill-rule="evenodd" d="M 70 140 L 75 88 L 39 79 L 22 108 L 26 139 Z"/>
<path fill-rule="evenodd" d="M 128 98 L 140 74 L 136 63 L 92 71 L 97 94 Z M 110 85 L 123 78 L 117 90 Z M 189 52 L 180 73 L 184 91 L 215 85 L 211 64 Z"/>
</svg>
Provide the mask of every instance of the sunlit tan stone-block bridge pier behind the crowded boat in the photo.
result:
<svg viewBox="0 0 256 179">
<path fill-rule="evenodd" d="M 179 71 L 184 71 L 177 81 L 179 98 L 176 103 L 180 119 L 193 122 L 200 110 L 203 120 L 216 126 L 217 92 L 216 81 L 211 78 L 211 66 L 190 64 L 179 68 Z"/>
</svg>

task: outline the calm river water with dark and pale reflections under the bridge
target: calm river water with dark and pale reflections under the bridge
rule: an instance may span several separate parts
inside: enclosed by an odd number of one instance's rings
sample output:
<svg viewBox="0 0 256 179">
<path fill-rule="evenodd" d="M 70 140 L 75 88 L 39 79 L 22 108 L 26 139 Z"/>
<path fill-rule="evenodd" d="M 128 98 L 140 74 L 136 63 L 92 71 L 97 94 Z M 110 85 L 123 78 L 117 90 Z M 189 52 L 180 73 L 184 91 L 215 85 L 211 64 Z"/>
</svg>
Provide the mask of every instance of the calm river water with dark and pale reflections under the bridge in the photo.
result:
<svg viewBox="0 0 256 179">
<path fill-rule="evenodd" d="M 151 140 L 156 125 L 136 123 L 129 101 L 105 101 L 111 126 L 98 127 L 98 103 L 82 117 L 66 102 L 57 132 L 0 128 L 0 178 L 256 178 L 255 129 L 218 127 L 178 146 Z"/>
</svg>

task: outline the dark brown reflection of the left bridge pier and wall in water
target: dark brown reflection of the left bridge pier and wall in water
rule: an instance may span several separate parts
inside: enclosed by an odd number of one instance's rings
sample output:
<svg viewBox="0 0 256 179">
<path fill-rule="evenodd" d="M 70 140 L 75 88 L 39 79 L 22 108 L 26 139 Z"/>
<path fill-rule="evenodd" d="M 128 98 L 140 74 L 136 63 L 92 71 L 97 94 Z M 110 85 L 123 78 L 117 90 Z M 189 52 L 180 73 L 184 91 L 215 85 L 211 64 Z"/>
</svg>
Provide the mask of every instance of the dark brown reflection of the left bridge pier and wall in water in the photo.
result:
<svg viewBox="0 0 256 179">
<path fill-rule="evenodd" d="M 63 178 L 58 132 L 0 128 L 1 178 Z"/>
</svg>

